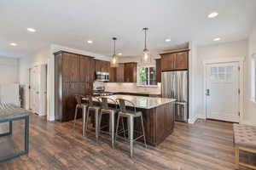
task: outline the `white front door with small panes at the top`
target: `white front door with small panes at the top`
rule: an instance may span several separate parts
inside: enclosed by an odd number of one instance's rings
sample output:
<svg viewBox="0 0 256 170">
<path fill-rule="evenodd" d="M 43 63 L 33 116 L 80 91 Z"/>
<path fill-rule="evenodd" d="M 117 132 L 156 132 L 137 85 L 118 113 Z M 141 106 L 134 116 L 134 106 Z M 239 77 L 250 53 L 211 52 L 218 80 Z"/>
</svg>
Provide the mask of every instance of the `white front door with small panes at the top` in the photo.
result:
<svg viewBox="0 0 256 170">
<path fill-rule="evenodd" d="M 239 122 L 239 63 L 207 65 L 207 118 Z"/>
</svg>

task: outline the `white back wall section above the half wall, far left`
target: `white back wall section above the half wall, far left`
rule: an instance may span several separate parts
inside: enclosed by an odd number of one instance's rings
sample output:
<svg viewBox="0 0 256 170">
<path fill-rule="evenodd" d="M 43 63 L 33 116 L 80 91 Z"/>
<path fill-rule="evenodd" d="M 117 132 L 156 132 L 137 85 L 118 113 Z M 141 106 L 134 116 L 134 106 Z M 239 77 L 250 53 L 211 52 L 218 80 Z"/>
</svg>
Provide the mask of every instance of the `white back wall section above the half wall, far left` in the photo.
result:
<svg viewBox="0 0 256 170">
<path fill-rule="evenodd" d="M 0 84 L 19 82 L 19 59 L 0 56 Z"/>
</svg>

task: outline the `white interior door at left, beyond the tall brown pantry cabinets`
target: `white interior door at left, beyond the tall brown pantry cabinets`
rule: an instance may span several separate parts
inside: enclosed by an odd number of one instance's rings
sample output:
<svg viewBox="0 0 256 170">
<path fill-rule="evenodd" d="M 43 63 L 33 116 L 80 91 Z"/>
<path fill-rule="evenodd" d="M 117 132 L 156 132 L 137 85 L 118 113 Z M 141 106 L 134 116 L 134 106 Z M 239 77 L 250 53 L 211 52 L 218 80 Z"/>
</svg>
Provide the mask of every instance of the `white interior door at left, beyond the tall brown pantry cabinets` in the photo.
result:
<svg viewBox="0 0 256 170">
<path fill-rule="evenodd" d="M 39 96 L 39 88 L 40 88 L 40 68 L 39 66 L 35 66 L 30 69 L 30 102 L 31 102 L 31 110 L 37 114 L 39 114 L 40 109 L 40 96 Z"/>
</svg>

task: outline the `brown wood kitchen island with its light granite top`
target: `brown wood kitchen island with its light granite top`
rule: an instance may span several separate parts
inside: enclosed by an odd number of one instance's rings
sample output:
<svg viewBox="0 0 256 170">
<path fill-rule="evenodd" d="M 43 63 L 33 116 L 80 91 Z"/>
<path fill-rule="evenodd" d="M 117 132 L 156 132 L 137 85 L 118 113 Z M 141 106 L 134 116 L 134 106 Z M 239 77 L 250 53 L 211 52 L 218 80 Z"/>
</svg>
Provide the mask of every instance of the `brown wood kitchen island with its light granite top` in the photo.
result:
<svg viewBox="0 0 256 170">
<path fill-rule="evenodd" d="M 130 100 L 136 105 L 137 111 L 143 112 L 143 121 L 148 144 L 157 146 L 173 132 L 175 99 L 131 95 L 111 95 L 108 96 L 108 98 Z M 142 132 L 141 129 L 140 120 L 136 120 L 135 130 Z"/>
</svg>

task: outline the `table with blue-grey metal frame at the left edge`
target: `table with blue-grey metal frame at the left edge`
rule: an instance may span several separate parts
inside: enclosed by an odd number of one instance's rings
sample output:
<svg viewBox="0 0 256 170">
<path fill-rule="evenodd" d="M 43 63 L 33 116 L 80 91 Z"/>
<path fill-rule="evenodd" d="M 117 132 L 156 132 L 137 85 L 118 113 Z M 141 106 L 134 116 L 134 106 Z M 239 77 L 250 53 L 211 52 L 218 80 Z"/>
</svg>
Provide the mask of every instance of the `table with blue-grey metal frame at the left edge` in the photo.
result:
<svg viewBox="0 0 256 170">
<path fill-rule="evenodd" d="M 24 120 L 25 121 L 25 150 L 15 153 L 10 156 L 0 157 L 0 161 L 6 161 L 17 156 L 22 156 L 28 153 L 29 149 L 29 116 L 30 111 L 26 111 L 17 107 L 15 105 L 7 105 L 0 103 L 0 123 L 9 122 L 9 132 L 0 134 L 0 137 L 12 135 L 13 132 L 13 122 Z"/>
</svg>

